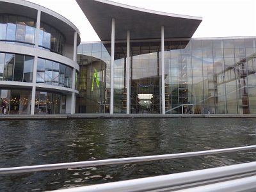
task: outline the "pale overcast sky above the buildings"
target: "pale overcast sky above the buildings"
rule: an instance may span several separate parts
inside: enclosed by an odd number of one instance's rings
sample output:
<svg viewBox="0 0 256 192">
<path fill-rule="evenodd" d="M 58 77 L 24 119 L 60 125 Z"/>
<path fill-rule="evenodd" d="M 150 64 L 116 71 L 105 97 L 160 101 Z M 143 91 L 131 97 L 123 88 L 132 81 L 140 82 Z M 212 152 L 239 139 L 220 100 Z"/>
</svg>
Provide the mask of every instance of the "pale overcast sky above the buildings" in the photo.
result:
<svg viewBox="0 0 256 192">
<path fill-rule="evenodd" d="M 29 0 L 45 6 L 70 20 L 80 31 L 82 42 L 99 41 L 99 37 L 86 19 L 76 0 Z M 86 0 L 84 0 L 86 1 Z M 256 36 L 255 0 L 113 0 L 156 10 L 202 17 L 193 38 Z"/>
</svg>

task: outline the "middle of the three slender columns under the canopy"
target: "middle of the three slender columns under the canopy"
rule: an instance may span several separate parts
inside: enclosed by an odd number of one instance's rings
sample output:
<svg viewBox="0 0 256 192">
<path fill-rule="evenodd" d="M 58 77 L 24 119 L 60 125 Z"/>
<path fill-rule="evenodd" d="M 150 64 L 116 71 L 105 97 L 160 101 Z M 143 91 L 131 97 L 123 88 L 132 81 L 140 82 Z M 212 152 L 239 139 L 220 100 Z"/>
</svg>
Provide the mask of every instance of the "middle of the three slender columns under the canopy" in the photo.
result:
<svg viewBox="0 0 256 192">
<path fill-rule="evenodd" d="M 127 31 L 127 58 L 126 58 L 126 113 L 130 114 L 130 70 L 131 70 L 131 60 L 130 60 L 130 31 Z"/>
</svg>

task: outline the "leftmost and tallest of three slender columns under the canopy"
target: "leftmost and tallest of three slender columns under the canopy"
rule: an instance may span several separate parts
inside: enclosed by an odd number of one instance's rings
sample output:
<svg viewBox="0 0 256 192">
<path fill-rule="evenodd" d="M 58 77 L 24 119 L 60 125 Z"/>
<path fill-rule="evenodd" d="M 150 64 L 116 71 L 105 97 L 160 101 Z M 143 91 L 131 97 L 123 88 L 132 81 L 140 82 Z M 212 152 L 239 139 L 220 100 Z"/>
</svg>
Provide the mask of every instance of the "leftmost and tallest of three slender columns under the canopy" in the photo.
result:
<svg viewBox="0 0 256 192">
<path fill-rule="evenodd" d="M 115 19 L 112 19 L 111 64 L 110 64 L 110 114 L 114 114 L 114 60 L 115 60 Z"/>
</svg>

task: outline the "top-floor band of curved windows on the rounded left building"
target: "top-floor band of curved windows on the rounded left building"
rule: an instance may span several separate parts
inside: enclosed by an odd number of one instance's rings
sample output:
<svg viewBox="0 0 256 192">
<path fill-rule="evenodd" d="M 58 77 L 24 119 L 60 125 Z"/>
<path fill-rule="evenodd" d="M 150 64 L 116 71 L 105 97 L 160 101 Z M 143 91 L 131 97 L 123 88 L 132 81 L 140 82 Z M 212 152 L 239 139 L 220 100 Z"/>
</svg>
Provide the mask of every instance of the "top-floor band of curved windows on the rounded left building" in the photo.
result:
<svg viewBox="0 0 256 192">
<path fill-rule="evenodd" d="M 0 42 L 35 46 L 36 20 L 19 15 L 0 15 Z M 38 45 L 62 54 L 65 38 L 58 29 L 40 22 Z"/>
</svg>

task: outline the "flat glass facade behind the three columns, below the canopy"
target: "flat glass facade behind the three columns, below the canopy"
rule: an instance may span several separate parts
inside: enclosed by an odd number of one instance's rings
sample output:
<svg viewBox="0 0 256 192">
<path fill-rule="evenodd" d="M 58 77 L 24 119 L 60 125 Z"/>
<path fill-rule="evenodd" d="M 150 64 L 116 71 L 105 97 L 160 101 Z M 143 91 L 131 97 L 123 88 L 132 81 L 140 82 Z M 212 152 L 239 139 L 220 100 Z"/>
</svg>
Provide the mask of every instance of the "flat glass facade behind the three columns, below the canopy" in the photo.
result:
<svg viewBox="0 0 256 192">
<path fill-rule="evenodd" d="M 256 114 L 255 40 L 164 40 L 164 87 L 161 40 L 131 41 L 129 58 L 127 43 L 115 43 L 114 113 Z M 111 43 L 79 45 L 77 63 L 76 113 L 109 113 Z"/>
</svg>

